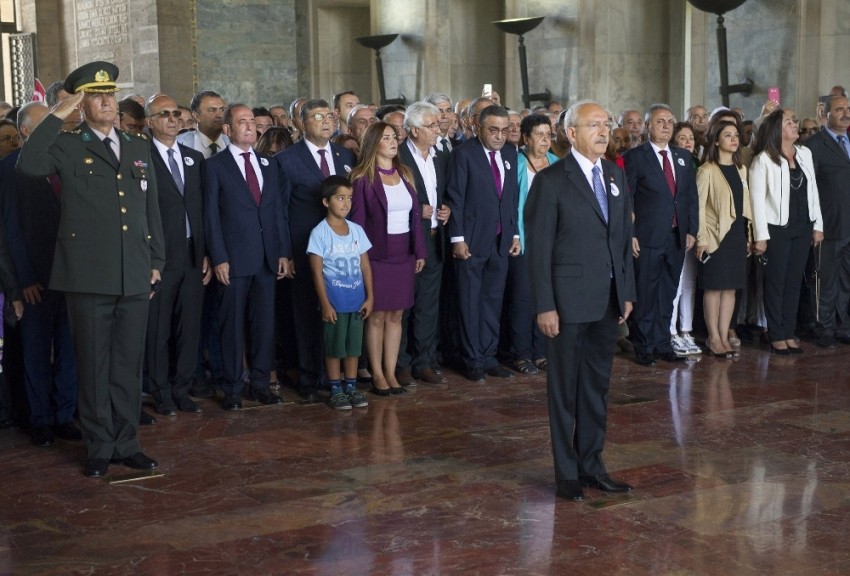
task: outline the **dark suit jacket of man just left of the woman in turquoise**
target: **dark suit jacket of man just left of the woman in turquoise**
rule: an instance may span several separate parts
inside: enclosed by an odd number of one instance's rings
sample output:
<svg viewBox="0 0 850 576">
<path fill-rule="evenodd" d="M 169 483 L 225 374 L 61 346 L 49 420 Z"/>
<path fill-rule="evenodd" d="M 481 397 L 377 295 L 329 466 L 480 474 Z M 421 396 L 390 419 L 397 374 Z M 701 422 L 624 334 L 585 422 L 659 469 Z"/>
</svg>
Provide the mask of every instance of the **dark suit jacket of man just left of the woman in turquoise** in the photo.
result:
<svg viewBox="0 0 850 576">
<path fill-rule="evenodd" d="M 447 204 L 452 209 L 449 236 L 463 236 L 469 252 L 475 256 L 490 253 L 500 223 L 500 255 L 507 256 L 513 237 L 518 234 L 516 149 L 506 143 L 501 154 L 505 175 L 501 201 L 489 158 L 478 138 L 455 148 L 449 160 L 446 187 Z"/>
</svg>

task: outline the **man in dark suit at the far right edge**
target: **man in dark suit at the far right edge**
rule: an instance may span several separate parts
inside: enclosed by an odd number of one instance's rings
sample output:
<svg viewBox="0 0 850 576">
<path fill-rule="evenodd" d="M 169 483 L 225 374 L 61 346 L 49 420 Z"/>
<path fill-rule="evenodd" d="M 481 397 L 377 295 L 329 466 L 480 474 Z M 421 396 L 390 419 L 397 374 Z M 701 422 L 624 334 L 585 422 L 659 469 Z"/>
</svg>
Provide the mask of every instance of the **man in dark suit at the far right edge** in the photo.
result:
<svg viewBox="0 0 850 576">
<path fill-rule="evenodd" d="M 818 345 L 850 344 L 850 100 L 832 96 L 826 126 L 806 140 L 812 151 L 823 214 L 820 246 Z"/>
</svg>

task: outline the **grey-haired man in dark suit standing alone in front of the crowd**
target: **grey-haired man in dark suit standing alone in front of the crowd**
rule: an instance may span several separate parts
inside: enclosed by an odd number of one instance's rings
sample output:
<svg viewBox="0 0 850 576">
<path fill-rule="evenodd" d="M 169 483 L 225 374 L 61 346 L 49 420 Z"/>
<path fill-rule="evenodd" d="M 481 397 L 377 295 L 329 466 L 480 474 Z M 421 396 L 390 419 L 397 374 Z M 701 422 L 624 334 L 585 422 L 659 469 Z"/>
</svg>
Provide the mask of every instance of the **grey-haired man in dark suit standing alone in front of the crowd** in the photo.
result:
<svg viewBox="0 0 850 576">
<path fill-rule="evenodd" d="M 582 486 L 627 492 L 602 462 L 617 340 L 635 299 L 626 179 L 605 160 L 608 115 L 590 101 L 565 116 L 572 152 L 534 178 L 525 206 L 526 255 L 537 323 L 548 340 L 549 427 L 557 494 Z"/>
</svg>

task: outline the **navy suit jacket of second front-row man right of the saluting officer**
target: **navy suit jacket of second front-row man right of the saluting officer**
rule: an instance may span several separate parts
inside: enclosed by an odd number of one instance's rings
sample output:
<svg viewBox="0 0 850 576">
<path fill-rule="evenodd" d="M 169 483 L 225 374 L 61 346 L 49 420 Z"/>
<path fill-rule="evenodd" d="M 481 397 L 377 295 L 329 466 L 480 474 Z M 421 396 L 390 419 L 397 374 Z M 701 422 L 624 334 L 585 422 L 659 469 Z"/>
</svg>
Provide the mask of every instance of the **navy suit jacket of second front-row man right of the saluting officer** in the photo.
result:
<svg viewBox="0 0 850 576">
<path fill-rule="evenodd" d="M 289 241 L 289 182 L 273 158 L 257 154 L 263 173 L 260 205 L 230 150 L 203 163 L 204 226 L 213 266 L 230 264 L 231 276 L 253 276 L 263 265 L 277 273 L 280 258 L 292 258 Z"/>
</svg>

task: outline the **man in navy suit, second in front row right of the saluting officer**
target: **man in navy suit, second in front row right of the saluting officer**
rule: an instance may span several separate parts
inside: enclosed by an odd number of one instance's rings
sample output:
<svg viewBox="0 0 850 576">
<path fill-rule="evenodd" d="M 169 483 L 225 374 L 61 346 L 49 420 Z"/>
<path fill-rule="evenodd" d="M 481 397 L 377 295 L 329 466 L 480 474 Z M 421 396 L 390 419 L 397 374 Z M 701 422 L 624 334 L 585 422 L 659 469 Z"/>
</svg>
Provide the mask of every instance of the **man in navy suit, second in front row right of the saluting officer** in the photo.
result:
<svg viewBox="0 0 850 576">
<path fill-rule="evenodd" d="M 274 161 L 252 150 L 254 113 L 232 104 L 224 116 L 230 144 L 204 162 L 204 226 L 210 260 L 221 284 L 221 351 L 225 410 L 240 410 L 242 358 L 248 327 L 246 397 L 279 404 L 269 390 L 274 361 L 275 280 L 292 275 L 289 183 Z M 309 274 L 308 274 L 309 275 Z"/>
</svg>

